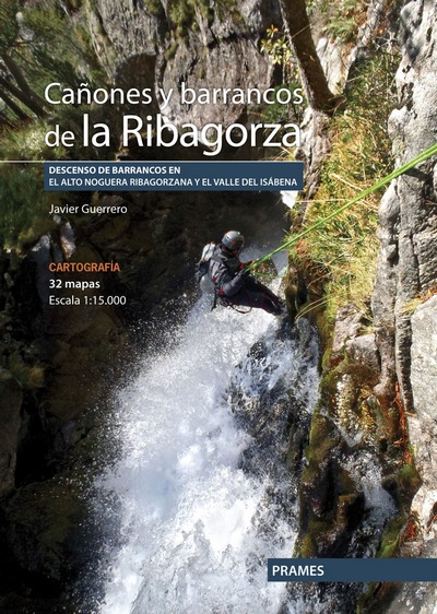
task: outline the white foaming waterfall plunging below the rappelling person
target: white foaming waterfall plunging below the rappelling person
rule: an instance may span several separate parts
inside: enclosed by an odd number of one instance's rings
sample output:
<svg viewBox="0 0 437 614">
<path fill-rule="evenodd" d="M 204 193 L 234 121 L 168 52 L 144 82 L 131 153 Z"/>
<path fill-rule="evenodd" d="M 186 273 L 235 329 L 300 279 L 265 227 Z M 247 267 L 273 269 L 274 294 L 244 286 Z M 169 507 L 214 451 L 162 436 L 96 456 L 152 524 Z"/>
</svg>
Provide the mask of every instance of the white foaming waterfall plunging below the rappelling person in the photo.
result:
<svg viewBox="0 0 437 614">
<path fill-rule="evenodd" d="M 170 346 L 120 391 L 114 434 L 122 453 L 101 487 L 119 500 L 121 539 L 96 611 L 277 613 L 285 586 L 267 582 L 267 558 L 292 556 L 296 520 L 281 513 L 271 492 L 293 486 L 285 469 L 284 482 L 272 485 L 277 475 L 263 470 L 262 450 L 259 471 L 241 469 L 253 440 L 237 424 L 229 387 L 237 378 L 250 400 L 260 381 L 273 388 L 285 378 L 312 410 L 315 347 L 310 355 L 290 334 L 277 338 L 279 327 L 281 319 L 261 310 L 211 312 L 201 300 Z M 264 358 L 245 368 L 261 338 Z"/>
</svg>

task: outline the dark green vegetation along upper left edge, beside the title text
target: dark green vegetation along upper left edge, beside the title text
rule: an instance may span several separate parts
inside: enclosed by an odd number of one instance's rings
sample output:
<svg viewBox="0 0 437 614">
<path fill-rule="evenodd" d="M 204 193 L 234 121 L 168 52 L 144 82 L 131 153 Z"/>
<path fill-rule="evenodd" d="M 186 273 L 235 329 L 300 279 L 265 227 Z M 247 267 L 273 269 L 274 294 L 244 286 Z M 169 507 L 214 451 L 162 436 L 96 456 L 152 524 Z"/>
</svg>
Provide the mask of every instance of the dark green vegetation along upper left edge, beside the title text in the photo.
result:
<svg viewBox="0 0 437 614">
<path fill-rule="evenodd" d="M 78 133 L 82 114 L 72 105 L 50 107 L 44 91 L 50 82 L 72 88 L 82 82 L 91 87 L 103 83 L 80 5 L 69 2 L 62 8 L 55 0 L 1 2 L 0 160 L 79 157 L 72 149 L 45 144 L 54 123 Z M 0 246 L 20 250 L 52 226 L 47 211 L 60 196 L 45 193 L 42 186 L 42 165 L 1 165 Z"/>
</svg>

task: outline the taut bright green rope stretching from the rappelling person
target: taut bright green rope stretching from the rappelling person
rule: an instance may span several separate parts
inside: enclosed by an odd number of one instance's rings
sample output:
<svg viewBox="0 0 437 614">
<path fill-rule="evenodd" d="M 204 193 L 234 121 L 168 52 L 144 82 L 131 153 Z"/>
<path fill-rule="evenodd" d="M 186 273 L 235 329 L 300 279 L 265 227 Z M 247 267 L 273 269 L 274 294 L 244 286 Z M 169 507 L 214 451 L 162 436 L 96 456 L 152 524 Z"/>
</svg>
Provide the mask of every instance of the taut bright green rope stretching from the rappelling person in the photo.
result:
<svg viewBox="0 0 437 614">
<path fill-rule="evenodd" d="M 286 249 L 286 248 L 291 247 L 293 244 L 297 243 L 302 237 L 305 237 L 309 233 L 312 233 L 312 231 L 315 231 L 316 228 L 319 228 L 320 226 L 322 226 L 323 224 L 329 222 L 329 220 L 332 220 L 332 217 L 335 217 L 342 211 L 344 211 L 349 206 L 352 206 L 353 204 L 358 202 L 358 200 L 362 200 L 362 199 L 366 198 L 367 196 L 371 194 L 373 192 L 375 192 L 379 188 L 382 188 L 382 186 L 387 186 L 387 184 L 389 184 L 390 181 L 392 181 L 397 177 L 400 177 L 401 175 L 403 175 L 404 173 L 406 173 L 408 170 L 410 170 L 414 166 L 417 166 L 417 164 L 421 164 L 422 162 L 425 162 L 426 160 L 428 160 L 429 157 L 432 157 L 433 155 L 436 155 L 436 154 L 437 154 L 437 143 L 435 145 L 433 145 L 432 147 L 423 151 L 418 155 L 416 155 L 416 157 L 414 157 L 413 160 L 410 160 L 410 162 L 405 162 L 405 164 L 403 164 L 402 166 L 400 166 L 399 168 L 397 168 L 395 170 L 390 173 L 390 175 L 386 175 L 386 177 L 382 177 L 382 179 L 379 179 L 379 181 L 377 181 L 376 184 L 370 186 L 370 188 L 366 188 L 365 190 L 359 192 L 355 198 L 347 201 L 342 206 L 339 206 L 338 209 L 335 209 L 332 213 L 330 213 L 326 217 L 319 220 L 318 222 L 316 222 L 311 226 L 308 226 L 308 228 L 306 228 L 305 231 L 302 231 L 300 233 L 297 233 L 296 235 L 293 235 L 290 239 L 287 239 L 282 245 L 276 247 L 276 249 L 273 249 L 273 251 L 271 251 L 270 253 L 267 253 L 265 256 L 263 256 L 259 260 L 256 260 L 255 262 L 252 262 L 248 267 L 248 270 L 249 271 L 253 270 L 256 267 L 258 267 L 262 262 L 265 262 L 265 260 L 269 260 L 269 258 L 271 258 L 275 253 L 282 251 L 283 249 Z"/>
</svg>

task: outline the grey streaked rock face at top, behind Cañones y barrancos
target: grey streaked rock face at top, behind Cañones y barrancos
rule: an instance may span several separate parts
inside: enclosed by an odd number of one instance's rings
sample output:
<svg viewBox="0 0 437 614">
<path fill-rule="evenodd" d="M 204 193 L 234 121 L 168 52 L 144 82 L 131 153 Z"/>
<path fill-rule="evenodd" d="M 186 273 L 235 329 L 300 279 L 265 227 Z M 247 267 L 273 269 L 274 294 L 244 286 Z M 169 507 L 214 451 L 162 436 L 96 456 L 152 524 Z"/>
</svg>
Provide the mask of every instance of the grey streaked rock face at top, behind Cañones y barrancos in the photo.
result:
<svg viewBox="0 0 437 614">
<path fill-rule="evenodd" d="M 131 2 L 93 0 L 88 23 L 101 61 L 117 84 L 180 92 L 188 87 L 258 87 L 271 84 L 272 66 L 258 49 L 258 40 L 272 22 L 280 23 L 274 1 L 244 0 L 235 4 L 191 2 Z M 176 125 L 208 122 L 228 126 L 246 105 L 181 104 L 173 96 L 162 113 Z M 138 113 L 138 110 L 137 110 Z M 150 108 L 147 107 L 147 113 Z"/>
</svg>

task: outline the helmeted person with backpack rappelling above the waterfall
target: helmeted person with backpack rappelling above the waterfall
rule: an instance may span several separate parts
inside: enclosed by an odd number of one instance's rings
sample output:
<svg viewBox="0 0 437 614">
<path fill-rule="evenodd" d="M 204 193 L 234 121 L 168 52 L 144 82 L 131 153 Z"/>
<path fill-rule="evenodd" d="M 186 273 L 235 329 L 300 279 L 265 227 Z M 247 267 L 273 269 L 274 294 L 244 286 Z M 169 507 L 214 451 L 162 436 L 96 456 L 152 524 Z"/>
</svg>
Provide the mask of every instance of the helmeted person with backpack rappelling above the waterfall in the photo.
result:
<svg viewBox="0 0 437 614">
<path fill-rule="evenodd" d="M 257 307 L 268 314 L 286 312 L 284 302 L 249 273 L 251 262 L 241 262 L 239 255 L 245 237 L 238 231 L 228 231 L 218 245 L 203 248 L 198 263 L 198 279 L 202 290 L 210 284 L 214 292 L 214 307 Z M 212 282 L 212 283 L 211 283 Z"/>
</svg>

